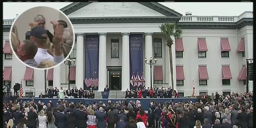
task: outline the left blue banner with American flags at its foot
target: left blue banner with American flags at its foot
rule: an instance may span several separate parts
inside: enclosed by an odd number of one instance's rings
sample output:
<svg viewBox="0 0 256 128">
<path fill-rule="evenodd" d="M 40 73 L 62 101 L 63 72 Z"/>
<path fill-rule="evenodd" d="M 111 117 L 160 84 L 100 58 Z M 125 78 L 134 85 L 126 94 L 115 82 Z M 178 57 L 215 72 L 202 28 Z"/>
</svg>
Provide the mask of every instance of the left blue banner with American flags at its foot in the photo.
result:
<svg viewBox="0 0 256 128">
<path fill-rule="evenodd" d="M 84 90 L 98 90 L 99 43 L 99 35 L 86 35 Z"/>
</svg>

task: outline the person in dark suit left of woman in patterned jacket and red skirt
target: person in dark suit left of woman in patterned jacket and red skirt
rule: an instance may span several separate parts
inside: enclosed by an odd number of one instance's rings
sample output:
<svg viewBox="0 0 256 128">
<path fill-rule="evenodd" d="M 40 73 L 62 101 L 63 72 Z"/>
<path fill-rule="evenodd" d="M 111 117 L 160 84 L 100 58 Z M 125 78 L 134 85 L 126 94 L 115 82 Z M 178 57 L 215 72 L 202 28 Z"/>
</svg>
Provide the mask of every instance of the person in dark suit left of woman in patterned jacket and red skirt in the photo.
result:
<svg viewBox="0 0 256 128">
<path fill-rule="evenodd" d="M 84 112 L 84 107 L 81 106 L 79 112 L 76 115 L 77 128 L 86 128 L 85 122 L 88 120 L 87 114 Z"/>
</svg>

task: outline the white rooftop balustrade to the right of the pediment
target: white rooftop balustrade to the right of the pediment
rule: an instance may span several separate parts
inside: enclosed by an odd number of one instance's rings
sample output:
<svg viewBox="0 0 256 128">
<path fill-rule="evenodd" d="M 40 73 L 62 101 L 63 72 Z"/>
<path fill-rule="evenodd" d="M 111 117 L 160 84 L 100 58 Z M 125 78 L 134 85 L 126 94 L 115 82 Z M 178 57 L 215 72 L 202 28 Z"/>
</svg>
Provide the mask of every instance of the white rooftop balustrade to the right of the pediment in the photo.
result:
<svg viewBox="0 0 256 128">
<path fill-rule="evenodd" d="M 241 18 L 253 18 L 253 12 L 240 16 L 182 16 L 180 22 L 237 22 Z"/>
</svg>

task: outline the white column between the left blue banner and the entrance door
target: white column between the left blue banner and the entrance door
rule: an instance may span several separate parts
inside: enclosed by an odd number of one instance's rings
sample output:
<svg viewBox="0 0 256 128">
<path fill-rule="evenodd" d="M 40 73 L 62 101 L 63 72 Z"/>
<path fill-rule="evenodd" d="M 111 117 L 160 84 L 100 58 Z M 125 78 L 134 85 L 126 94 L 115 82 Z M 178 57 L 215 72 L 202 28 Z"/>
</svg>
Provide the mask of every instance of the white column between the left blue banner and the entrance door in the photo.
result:
<svg viewBox="0 0 256 128">
<path fill-rule="evenodd" d="M 103 91 L 107 85 L 107 62 L 106 62 L 106 46 L 107 46 L 107 33 L 100 32 L 100 48 L 99 48 L 99 90 Z"/>
</svg>

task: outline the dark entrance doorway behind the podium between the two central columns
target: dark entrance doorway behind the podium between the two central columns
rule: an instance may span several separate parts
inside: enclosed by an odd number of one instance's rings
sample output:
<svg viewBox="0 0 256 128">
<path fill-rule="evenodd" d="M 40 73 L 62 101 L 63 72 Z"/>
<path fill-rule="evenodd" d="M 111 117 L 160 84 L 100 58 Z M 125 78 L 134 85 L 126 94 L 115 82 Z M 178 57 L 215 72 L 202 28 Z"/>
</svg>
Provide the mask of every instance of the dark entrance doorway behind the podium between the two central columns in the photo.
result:
<svg viewBox="0 0 256 128">
<path fill-rule="evenodd" d="M 121 71 L 109 71 L 109 84 L 110 90 L 122 90 L 121 84 Z"/>
</svg>

